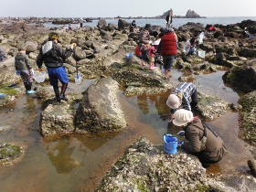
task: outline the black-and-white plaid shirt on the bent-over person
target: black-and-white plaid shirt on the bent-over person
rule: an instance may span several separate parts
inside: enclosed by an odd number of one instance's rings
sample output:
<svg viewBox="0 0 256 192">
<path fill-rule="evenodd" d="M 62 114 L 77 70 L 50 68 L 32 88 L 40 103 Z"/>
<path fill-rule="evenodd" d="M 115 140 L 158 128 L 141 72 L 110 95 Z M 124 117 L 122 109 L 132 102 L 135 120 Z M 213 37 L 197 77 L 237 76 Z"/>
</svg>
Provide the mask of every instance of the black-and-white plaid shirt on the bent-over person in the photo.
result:
<svg viewBox="0 0 256 192">
<path fill-rule="evenodd" d="M 172 91 L 172 93 L 176 93 L 177 95 L 182 94 L 183 109 L 191 111 L 190 97 L 194 91 L 197 91 L 197 87 L 194 83 L 181 82 L 177 85 L 176 89 Z"/>
</svg>

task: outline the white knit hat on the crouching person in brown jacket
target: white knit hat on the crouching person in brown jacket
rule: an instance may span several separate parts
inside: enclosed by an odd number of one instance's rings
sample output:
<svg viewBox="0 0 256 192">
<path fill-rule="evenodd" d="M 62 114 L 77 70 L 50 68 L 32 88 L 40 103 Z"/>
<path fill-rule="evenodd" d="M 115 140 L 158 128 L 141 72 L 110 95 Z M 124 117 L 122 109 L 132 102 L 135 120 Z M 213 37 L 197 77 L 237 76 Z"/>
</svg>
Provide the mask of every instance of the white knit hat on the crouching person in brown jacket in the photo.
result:
<svg viewBox="0 0 256 192">
<path fill-rule="evenodd" d="M 174 118 L 173 123 L 176 126 L 183 126 L 193 120 L 193 113 L 191 111 L 180 109 L 174 113 Z"/>
</svg>

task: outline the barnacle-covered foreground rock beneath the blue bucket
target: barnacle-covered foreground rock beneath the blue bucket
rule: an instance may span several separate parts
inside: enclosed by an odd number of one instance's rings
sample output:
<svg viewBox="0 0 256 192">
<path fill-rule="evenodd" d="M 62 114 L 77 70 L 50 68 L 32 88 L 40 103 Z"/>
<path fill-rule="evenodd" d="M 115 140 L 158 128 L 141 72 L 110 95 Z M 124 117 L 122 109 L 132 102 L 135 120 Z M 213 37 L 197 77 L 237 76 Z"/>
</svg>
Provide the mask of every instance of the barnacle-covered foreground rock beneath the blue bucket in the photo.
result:
<svg viewBox="0 0 256 192">
<path fill-rule="evenodd" d="M 255 181 L 252 180 L 251 185 L 255 186 Z M 242 184 L 237 186 L 241 187 Z M 248 189 L 250 191 L 251 187 Z M 235 189 L 225 187 L 220 177 L 219 181 L 208 177 L 205 168 L 195 156 L 188 155 L 182 149 L 178 149 L 176 155 L 168 155 L 162 145 L 155 146 L 145 138 L 141 138 L 112 166 L 96 191 L 129 190 L 233 191 Z"/>
</svg>

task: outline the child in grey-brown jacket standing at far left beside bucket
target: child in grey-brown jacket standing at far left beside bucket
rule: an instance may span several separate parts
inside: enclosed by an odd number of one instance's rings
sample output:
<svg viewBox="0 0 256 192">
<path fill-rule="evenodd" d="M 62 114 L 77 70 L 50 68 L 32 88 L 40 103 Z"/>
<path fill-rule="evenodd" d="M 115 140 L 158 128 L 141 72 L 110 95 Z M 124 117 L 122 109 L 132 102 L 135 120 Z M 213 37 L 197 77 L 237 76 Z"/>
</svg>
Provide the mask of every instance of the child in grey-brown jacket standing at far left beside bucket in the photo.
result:
<svg viewBox="0 0 256 192">
<path fill-rule="evenodd" d="M 26 47 L 24 45 L 18 47 L 18 52 L 15 57 L 15 67 L 16 74 L 20 75 L 24 82 L 27 94 L 35 93 L 36 91 L 31 90 L 33 82 L 32 68 L 27 58 Z"/>
</svg>

